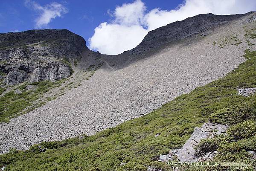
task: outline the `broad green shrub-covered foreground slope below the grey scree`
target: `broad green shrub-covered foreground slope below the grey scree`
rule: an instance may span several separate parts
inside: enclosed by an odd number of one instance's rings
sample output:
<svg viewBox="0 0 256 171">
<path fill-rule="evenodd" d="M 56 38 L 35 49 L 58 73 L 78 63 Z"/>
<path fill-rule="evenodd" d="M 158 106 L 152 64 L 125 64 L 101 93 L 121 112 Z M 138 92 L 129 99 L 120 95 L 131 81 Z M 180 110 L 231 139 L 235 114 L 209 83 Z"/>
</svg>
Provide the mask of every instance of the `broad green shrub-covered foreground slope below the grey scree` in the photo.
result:
<svg viewBox="0 0 256 171">
<path fill-rule="evenodd" d="M 6 171 L 146 171 L 148 166 L 168 171 L 172 169 L 170 166 L 157 162 L 159 155 L 182 147 L 194 128 L 209 118 L 234 126 L 230 127 L 229 136 L 219 137 L 221 140 L 203 141 L 201 153 L 214 149 L 218 150 L 220 161 L 248 161 L 246 150 L 253 150 L 256 146 L 255 128 L 252 127 L 255 124 L 254 108 L 239 110 L 236 107 L 250 104 L 255 97 L 239 96 L 237 88 L 256 87 L 256 52 L 246 50 L 245 58 L 247 61 L 224 78 L 183 94 L 146 116 L 93 136 L 43 142 L 27 151 L 12 149 L 0 156 L 0 166 L 6 165 Z M 239 111 L 244 111 L 241 117 Z M 226 116 L 222 117 L 220 113 Z M 233 121 L 236 116 L 240 118 Z M 247 118 L 245 122 L 244 118 Z M 237 131 L 245 126 L 250 128 L 240 137 Z M 160 135 L 155 137 L 156 134 Z M 121 162 L 125 165 L 121 166 Z M 215 168 L 190 167 L 183 170 L 200 169 L 212 171 Z"/>
</svg>

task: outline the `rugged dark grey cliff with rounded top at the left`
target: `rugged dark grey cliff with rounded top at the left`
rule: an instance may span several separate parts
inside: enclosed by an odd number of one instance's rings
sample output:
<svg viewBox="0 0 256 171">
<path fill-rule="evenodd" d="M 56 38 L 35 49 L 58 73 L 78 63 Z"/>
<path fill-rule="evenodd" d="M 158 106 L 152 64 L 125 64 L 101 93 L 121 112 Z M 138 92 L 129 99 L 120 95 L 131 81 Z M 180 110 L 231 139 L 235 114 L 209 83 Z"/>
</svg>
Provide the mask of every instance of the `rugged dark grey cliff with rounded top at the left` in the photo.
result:
<svg viewBox="0 0 256 171">
<path fill-rule="evenodd" d="M 81 58 L 85 50 L 84 39 L 66 29 L 0 34 L 0 70 L 7 73 L 3 84 L 67 78 L 72 73 L 67 59 Z"/>
</svg>

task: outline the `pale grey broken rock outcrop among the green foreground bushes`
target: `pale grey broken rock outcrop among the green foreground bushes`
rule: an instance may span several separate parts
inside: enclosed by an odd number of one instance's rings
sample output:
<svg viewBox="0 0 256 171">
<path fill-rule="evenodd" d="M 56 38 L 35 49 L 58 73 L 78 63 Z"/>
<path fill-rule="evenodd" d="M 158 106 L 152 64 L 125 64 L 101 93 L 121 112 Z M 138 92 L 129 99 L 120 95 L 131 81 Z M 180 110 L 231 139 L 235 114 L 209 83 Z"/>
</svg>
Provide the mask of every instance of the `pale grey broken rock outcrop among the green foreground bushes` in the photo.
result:
<svg viewBox="0 0 256 171">
<path fill-rule="evenodd" d="M 161 154 L 159 161 L 171 161 L 174 156 L 177 156 L 177 159 L 179 159 L 180 162 L 205 161 L 211 159 L 216 152 L 197 159 L 195 157 L 195 146 L 198 145 L 202 139 L 213 138 L 215 135 L 226 133 L 227 128 L 227 125 L 213 124 L 210 122 L 205 123 L 201 128 L 196 127 L 182 148 L 171 150 L 167 155 Z"/>
</svg>

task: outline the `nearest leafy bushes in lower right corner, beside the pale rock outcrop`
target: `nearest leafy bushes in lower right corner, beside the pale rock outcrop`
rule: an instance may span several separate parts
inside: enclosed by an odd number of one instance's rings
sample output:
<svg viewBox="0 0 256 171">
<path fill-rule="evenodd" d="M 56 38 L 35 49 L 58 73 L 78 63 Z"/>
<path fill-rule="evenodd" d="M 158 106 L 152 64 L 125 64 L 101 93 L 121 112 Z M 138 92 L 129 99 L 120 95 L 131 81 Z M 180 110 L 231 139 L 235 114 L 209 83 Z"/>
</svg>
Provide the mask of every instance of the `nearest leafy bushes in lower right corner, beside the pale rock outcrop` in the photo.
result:
<svg viewBox="0 0 256 171">
<path fill-rule="evenodd" d="M 232 115 L 232 114 L 231 114 Z M 198 157 L 203 156 L 209 152 L 217 151 L 217 155 L 214 157 L 216 162 L 245 162 L 256 168 L 254 159 L 251 159 L 252 155 L 247 151 L 256 151 L 256 121 L 245 120 L 231 126 L 227 130 L 227 135 L 215 136 L 212 139 L 204 139 L 197 147 Z M 253 171 L 249 168 L 247 170 Z M 240 170 L 235 167 L 219 167 L 219 168 L 207 168 L 197 169 L 198 171 L 226 171 L 226 170 Z M 242 170 L 242 169 L 241 169 Z"/>
</svg>

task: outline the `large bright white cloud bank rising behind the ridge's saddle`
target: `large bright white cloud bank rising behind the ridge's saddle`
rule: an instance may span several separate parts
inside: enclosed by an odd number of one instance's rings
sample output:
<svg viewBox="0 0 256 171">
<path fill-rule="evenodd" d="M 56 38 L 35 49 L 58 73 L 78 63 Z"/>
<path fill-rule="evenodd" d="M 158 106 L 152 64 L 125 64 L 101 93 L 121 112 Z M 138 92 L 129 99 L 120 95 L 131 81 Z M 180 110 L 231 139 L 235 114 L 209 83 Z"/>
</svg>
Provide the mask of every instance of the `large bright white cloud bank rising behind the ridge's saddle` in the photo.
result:
<svg viewBox="0 0 256 171">
<path fill-rule="evenodd" d="M 101 23 L 89 39 L 89 48 L 116 55 L 137 46 L 148 31 L 197 14 L 243 14 L 256 10 L 255 0 L 185 0 L 176 9 L 146 11 L 141 0 L 117 6 L 113 18 Z"/>
</svg>

